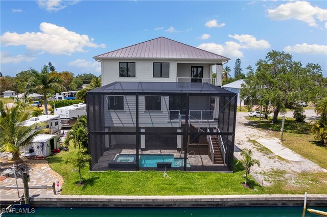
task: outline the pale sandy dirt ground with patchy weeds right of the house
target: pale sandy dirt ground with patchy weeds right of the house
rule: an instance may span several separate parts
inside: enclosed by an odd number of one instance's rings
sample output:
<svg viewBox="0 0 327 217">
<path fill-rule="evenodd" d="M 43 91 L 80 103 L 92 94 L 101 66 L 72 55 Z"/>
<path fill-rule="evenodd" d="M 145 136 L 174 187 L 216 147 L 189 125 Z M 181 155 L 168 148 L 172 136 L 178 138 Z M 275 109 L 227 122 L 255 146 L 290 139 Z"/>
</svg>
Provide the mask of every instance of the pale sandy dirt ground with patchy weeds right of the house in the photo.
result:
<svg viewBox="0 0 327 217">
<path fill-rule="evenodd" d="M 290 184 L 294 184 L 297 173 L 300 172 L 327 172 L 327 170 L 314 164 L 312 161 L 304 158 L 301 161 L 285 160 L 274 153 L 267 153 L 258 148 L 256 140 L 271 139 L 269 133 L 271 131 L 261 131 L 248 125 L 248 120 L 245 118 L 247 114 L 237 114 L 236 122 L 236 136 L 235 136 L 235 149 L 234 155 L 240 159 L 242 149 L 251 149 L 253 158 L 260 160 L 261 167 L 254 166 L 251 169 L 251 175 L 258 183 L 263 183 L 264 186 L 273 184 L 274 178 L 270 177 L 272 171 L 285 171 L 283 176 Z M 255 142 L 254 142 L 255 141 Z M 241 149 L 241 150 L 240 150 Z"/>
</svg>

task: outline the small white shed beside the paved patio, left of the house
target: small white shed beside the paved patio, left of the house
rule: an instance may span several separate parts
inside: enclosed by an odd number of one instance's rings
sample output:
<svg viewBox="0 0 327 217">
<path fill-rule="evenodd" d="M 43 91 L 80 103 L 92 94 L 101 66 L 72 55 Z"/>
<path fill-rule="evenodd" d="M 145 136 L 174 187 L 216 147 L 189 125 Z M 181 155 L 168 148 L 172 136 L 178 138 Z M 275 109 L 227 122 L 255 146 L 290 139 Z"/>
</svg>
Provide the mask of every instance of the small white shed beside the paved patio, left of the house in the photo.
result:
<svg viewBox="0 0 327 217">
<path fill-rule="evenodd" d="M 25 156 L 49 156 L 54 149 L 59 148 L 58 135 L 36 135 L 30 145 L 25 147 Z"/>
</svg>

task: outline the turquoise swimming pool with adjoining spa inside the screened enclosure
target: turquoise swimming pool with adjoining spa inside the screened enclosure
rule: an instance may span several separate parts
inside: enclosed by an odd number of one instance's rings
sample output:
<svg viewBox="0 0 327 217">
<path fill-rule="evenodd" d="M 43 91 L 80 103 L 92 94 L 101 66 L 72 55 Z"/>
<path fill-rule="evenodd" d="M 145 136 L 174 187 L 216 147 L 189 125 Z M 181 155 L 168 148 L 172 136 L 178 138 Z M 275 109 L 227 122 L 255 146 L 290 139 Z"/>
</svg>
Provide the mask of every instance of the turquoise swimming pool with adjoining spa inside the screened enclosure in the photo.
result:
<svg viewBox="0 0 327 217">
<path fill-rule="evenodd" d="M 184 158 L 174 157 L 173 154 L 141 154 L 139 155 L 139 167 L 157 167 L 157 162 L 171 162 L 172 167 L 184 167 Z M 114 159 L 115 162 L 135 162 L 135 154 L 120 154 Z M 186 167 L 191 167 L 187 159 Z"/>
</svg>

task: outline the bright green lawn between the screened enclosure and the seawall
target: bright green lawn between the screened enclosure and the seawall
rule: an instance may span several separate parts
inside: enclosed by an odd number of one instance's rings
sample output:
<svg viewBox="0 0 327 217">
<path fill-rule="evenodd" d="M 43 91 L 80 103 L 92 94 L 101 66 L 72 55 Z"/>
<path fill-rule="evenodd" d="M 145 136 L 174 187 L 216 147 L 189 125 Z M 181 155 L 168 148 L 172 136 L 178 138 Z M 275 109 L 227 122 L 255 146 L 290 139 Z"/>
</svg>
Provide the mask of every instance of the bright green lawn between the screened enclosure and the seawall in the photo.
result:
<svg viewBox="0 0 327 217">
<path fill-rule="evenodd" d="M 242 166 L 236 165 L 233 173 L 188 173 L 169 171 L 171 178 L 164 178 L 162 172 L 88 172 L 82 170 L 83 186 L 76 186 L 77 172 L 65 164 L 76 153 L 69 147 L 68 152 L 48 157 L 50 167 L 64 179 L 63 195 L 236 195 L 264 194 L 263 188 L 250 176 L 252 188 L 242 186 L 244 182 Z M 236 163 L 236 161 L 235 161 Z M 254 190 L 254 188 L 256 190 Z"/>
</svg>

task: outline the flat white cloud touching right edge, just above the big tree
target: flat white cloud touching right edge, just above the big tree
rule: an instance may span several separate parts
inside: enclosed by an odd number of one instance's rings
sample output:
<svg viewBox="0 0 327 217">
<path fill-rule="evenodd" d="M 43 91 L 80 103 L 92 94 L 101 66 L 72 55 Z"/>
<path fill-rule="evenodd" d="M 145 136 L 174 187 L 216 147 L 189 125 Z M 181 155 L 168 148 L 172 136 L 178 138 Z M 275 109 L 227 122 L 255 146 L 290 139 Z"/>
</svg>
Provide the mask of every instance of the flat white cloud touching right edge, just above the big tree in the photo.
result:
<svg viewBox="0 0 327 217">
<path fill-rule="evenodd" d="M 291 53 L 323 54 L 327 55 L 327 46 L 318 44 L 296 44 L 284 47 L 284 51 Z"/>
</svg>

